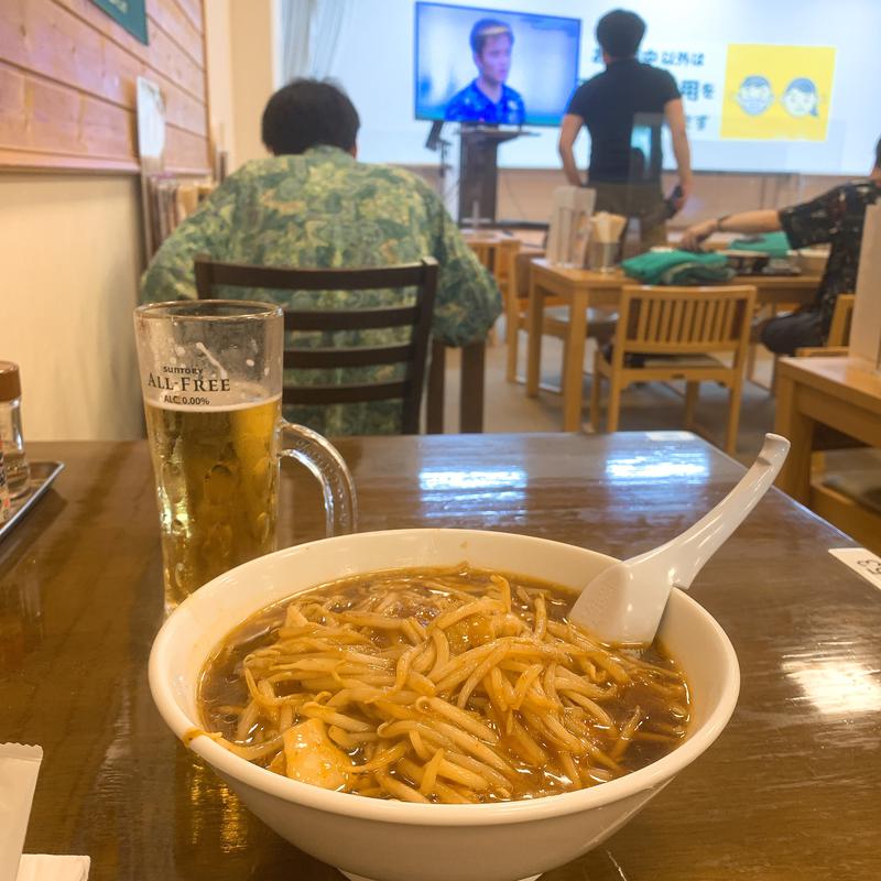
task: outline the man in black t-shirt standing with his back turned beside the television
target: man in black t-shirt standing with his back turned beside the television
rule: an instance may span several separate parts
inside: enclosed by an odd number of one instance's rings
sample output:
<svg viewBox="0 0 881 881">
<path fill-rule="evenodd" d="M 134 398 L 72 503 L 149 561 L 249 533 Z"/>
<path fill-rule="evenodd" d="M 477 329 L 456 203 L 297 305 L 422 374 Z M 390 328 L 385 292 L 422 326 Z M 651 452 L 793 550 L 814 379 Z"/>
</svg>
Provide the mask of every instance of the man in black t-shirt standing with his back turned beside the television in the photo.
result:
<svg viewBox="0 0 881 881">
<path fill-rule="evenodd" d="M 685 205 L 692 167 L 685 112 L 673 77 L 637 61 L 645 22 L 634 12 L 614 10 L 597 22 L 597 42 L 606 69 L 576 89 L 563 117 L 559 155 L 566 178 L 584 186 L 573 154 L 581 127 L 590 133 L 587 185 L 596 189 L 597 210 L 640 219 L 643 248 L 666 244 L 667 216 L 661 192 L 661 129 L 666 122 Z"/>
</svg>

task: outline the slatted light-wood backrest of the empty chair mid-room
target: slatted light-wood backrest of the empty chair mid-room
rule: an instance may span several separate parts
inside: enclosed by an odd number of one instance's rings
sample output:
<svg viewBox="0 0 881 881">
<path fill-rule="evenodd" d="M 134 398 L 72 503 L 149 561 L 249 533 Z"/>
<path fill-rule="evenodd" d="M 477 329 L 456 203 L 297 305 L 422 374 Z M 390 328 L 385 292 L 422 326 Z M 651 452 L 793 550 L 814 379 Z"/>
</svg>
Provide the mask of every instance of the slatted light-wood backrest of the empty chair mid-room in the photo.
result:
<svg viewBox="0 0 881 881">
<path fill-rule="evenodd" d="M 614 359 L 626 352 L 746 357 L 755 305 L 753 285 L 624 287 Z"/>
</svg>

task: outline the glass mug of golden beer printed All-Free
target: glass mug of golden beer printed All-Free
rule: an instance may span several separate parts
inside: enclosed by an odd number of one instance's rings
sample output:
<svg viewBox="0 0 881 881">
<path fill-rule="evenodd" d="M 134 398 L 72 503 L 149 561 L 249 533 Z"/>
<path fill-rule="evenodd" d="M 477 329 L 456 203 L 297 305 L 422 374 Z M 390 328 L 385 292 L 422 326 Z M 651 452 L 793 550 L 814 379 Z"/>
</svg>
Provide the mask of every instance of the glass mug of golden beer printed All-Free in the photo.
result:
<svg viewBox="0 0 881 881">
<path fill-rule="evenodd" d="M 281 307 L 156 303 L 135 309 L 134 333 L 167 611 L 215 576 L 275 550 L 281 456 L 320 480 L 328 534 L 355 530 L 342 457 L 322 435 L 281 417 Z"/>
</svg>

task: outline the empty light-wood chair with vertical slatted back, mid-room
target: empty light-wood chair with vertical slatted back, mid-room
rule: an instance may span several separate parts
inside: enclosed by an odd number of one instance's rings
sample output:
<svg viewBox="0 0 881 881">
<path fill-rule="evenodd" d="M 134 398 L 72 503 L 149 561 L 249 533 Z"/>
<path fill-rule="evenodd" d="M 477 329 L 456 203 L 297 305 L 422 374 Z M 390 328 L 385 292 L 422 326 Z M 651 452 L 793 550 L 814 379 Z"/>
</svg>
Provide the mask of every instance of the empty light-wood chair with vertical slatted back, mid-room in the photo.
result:
<svg viewBox="0 0 881 881">
<path fill-rule="evenodd" d="M 618 431 L 621 392 L 632 382 L 685 380 L 685 423 L 689 428 L 700 383 L 718 382 L 729 390 L 725 450 L 733 454 L 754 304 L 752 285 L 624 287 L 611 360 L 597 351 L 594 361 L 594 429 L 599 431 L 603 378 L 609 380 L 610 432 Z M 641 356 L 641 366 L 628 365 L 631 359 L 627 356 L 633 355 Z"/>
</svg>

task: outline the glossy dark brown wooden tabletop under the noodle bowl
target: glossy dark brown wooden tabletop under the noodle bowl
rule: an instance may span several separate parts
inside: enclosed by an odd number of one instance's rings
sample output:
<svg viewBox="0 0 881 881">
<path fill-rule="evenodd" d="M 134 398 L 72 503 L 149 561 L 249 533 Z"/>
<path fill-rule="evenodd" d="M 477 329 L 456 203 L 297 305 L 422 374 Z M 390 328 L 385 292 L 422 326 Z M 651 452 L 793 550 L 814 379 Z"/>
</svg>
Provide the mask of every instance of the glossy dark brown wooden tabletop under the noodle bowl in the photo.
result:
<svg viewBox="0 0 881 881">
<path fill-rule="evenodd" d="M 617 556 L 672 537 L 743 470 L 681 433 L 339 448 L 365 530 L 504 530 Z M 0 741 L 45 750 L 25 849 L 87 853 L 98 881 L 340 879 L 253 818 L 153 706 L 163 591 L 145 444 L 29 450 L 67 467 L 0 543 Z M 317 489 L 295 466 L 284 474 L 281 541 L 317 537 Z M 828 554 L 851 544 L 770 491 L 692 591 L 740 659 L 731 722 L 642 814 L 546 881 L 881 878 L 881 595 Z"/>
</svg>

